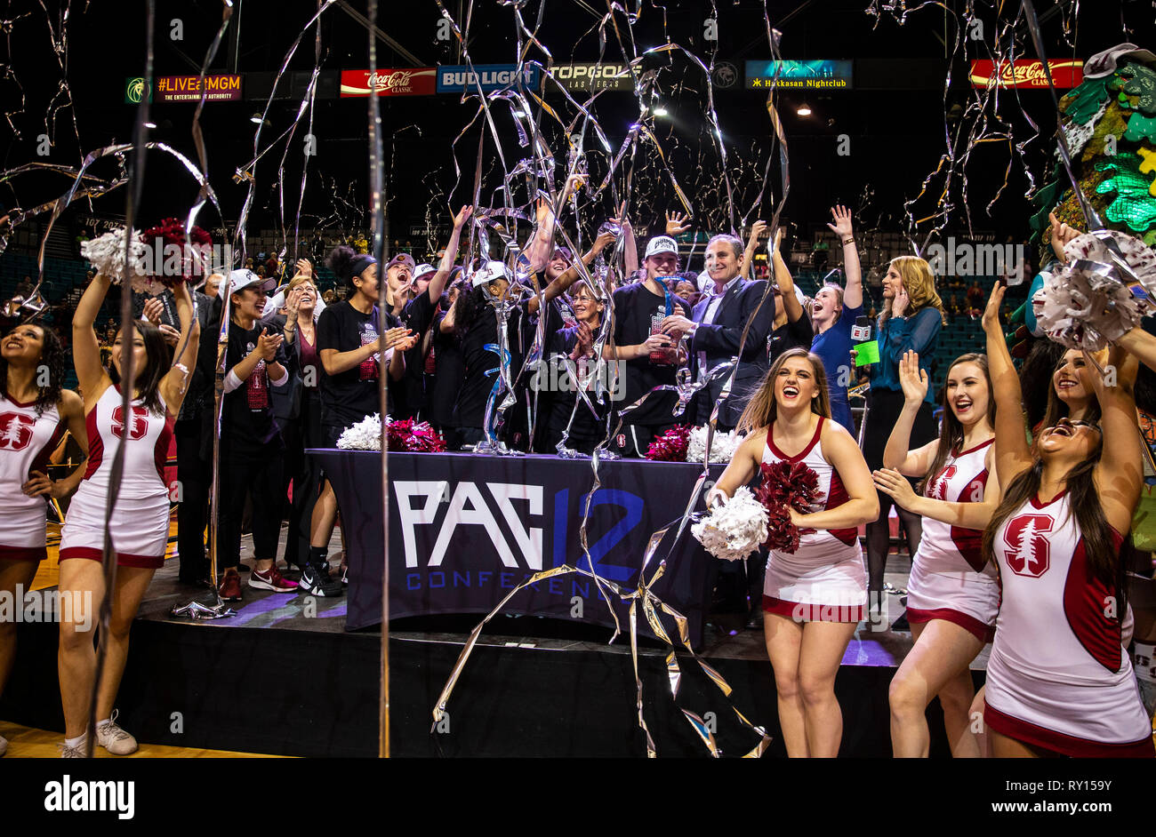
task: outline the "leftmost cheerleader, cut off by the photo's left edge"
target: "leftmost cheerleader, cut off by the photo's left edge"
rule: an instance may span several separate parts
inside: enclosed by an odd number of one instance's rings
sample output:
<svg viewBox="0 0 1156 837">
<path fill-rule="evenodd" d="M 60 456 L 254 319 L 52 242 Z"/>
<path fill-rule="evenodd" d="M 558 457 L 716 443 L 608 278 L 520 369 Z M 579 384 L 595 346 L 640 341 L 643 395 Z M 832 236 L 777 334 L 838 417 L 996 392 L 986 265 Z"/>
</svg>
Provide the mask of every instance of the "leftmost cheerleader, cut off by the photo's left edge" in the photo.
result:
<svg viewBox="0 0 1156 837">
<path fill-rule="evenodd" d="M 65 350 L 47 326 L 17 326 L 0 341 L 0 596 L 20 601 L 46 556 L 45 498 L 76 490 L 83 466 L 53 481 L 49 457 L 71 431 L 81 449 L 84 408 L 62 389 Z M 16 620 L 0 620 L 0 693 L 16 656 Z M 0 737 L 0 756 L 8 742 Z"/>
</svg>

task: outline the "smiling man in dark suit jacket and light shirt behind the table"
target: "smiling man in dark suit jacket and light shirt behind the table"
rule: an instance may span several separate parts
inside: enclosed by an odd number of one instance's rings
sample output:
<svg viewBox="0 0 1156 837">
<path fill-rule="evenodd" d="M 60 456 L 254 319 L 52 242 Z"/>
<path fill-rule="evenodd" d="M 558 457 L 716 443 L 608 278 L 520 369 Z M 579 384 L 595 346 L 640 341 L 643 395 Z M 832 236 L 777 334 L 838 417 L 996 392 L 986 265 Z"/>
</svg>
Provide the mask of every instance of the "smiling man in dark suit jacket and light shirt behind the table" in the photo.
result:
<svg viewBox="0 0 1156 837">
<path fill-rule="evenodd" d="M 734 236 L 712 238 L 706 245 L 706 272 L 714 283 L 713 292 L 695 306 L 692 320 L 672 315 L 662 321 L 665 332 L 689 335 L 690 369 L 696 381 L 739 353 L 739 341 L 750 321 L 731 395 L 719 409 L 720 431 L 734 429 L 747 399 L 766 374 L 766 338 L 775 327 L 775 297 L 764 279 L 742 278 L 742 241 Z M 695 396 L 695 424 L 710 420 L 727 378 L 729 374 L 720 375 Z"/>
</svg>

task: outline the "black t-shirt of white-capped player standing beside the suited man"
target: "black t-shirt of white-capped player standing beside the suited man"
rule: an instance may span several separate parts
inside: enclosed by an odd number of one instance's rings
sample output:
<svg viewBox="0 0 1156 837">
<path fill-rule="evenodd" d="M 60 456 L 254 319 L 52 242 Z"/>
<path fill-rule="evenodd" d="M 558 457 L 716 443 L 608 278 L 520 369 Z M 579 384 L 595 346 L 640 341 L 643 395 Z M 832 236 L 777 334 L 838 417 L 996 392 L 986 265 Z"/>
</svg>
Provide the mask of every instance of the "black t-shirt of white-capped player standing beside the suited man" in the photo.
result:
<svg viewBox="0 0 1156 837">
<path fill-rule="evenodd" d="M 690 305 L 681 297 L 670 294 L 672 309 L 681 305 L 683 314 L 690 319 Z M 666 311 L 666 297 L 646 287 L 645 282 L 637 282 L 614 292 L 614 344 L 616 346 L 633 346 L 645 343 L 651 335 L 651 317 L 658 315 L 658 309 Z M 627 387 L 625 397 L 615 406 L 623 408 L 633 404 L 644 394 L 661 384 L 674 384 L 679 367 L 674 364 L 659 365 L 650 361 L 650 356 L 625 361 Z M 621 368 L 621 366 L 620 366 Z M 677 403 L 674 393 L 658 393 L 646 399 L 640 408 L 632 410 L 623 419 L 625 425 L 669 425 L 680 419 L 672 413 Z"/>
</svg>

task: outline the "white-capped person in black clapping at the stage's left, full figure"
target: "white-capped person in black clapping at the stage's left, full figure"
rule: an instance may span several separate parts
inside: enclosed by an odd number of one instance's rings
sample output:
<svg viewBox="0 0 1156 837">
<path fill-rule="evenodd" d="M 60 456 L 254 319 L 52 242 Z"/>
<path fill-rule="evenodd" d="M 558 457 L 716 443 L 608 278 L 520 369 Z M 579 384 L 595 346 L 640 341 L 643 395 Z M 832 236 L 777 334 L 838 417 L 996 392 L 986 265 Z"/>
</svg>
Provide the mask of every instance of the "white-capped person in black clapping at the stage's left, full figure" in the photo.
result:
<svg viewBox="0 0 1156 837">
<path fill-rule="evenodd" d="M 281 466 L 284 443 L 273 417 L 269 387 L 289 380 L 283 335 L 260 321 L 265 294 L 274 279 L 252 270 L 229 274 L 229 334 L 224 397 L 221 402 L 221 486 L 217 556 L 223 567 L 218 592 L 225 601 L 242 597 L 240 518 L 245 495 L 252 501 L 253 571 L 249 585 L 296 592 L 297 584 L 276 566 L 281 532 Z"/>
</svg>

